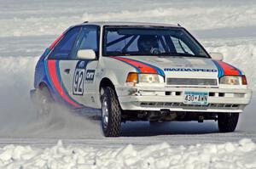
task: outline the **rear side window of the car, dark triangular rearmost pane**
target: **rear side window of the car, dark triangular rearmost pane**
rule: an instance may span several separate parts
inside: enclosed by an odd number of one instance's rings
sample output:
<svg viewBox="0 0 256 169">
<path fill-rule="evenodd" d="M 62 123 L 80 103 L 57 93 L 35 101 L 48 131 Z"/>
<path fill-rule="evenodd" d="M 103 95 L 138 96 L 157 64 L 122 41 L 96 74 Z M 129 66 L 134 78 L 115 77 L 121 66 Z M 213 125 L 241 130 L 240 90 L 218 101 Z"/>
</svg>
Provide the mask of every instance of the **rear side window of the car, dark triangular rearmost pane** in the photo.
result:
<svg viewBox="0 0 256 169">
<path fill-rule="evenodd" d="M 49 54 L 49 59 L 68 59 L 73 48 L 73 43 L 79 35 L 79 31 L 80 27 L 74 27 L 70 31 L 67 31 L 61 42 Z"/>
</svg>

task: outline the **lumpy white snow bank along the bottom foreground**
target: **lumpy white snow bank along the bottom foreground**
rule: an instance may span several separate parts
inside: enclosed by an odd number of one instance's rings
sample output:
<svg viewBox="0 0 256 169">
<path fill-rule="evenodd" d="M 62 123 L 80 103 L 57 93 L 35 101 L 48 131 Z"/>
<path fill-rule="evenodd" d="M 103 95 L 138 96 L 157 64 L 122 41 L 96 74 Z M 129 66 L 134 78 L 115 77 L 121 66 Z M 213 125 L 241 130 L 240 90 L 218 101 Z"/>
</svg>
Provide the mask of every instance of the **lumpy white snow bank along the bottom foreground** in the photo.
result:
<svg viewBox="0 0 256 169">
<path fill-rule="evenodd" d="M 0 148 L 1 168 L 255 168 L 256 144 L 237 143 L 172 146 L 162 143 L 137 148 L 63 145 L 47 149 L 7 145 Z"/>
</svg>

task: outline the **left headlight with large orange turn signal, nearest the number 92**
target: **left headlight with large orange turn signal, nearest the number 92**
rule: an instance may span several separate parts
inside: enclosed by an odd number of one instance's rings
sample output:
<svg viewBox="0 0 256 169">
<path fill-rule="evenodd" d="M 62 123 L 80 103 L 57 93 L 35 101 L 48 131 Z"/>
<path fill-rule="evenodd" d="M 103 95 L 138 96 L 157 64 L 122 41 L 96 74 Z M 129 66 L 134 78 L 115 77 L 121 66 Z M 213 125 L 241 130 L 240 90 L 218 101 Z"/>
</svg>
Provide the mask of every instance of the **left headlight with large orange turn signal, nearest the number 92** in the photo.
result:
<svg viewBox="0 0 256 169">
<path fill-rule="evenodd" d="M 138 74 L 138 73 L 129 73 L 126 82 L 138 83 L 138 82 L 148 82 L 148 83 L 157 83 L 165 82 L 164 77 L 158 74 Z"/>
</svg>

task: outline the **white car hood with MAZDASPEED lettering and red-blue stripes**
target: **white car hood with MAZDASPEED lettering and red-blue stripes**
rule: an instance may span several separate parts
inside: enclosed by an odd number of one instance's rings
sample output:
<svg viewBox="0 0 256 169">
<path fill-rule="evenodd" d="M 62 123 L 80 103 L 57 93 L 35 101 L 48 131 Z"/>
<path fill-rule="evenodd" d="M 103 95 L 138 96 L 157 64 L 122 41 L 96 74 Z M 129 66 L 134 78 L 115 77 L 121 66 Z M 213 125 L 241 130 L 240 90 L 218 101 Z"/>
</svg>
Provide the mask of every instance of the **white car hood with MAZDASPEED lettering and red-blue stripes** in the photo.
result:
<svg viewBox="0 0 256 169">
<path fill-rule="evenodd" d="M 218 78 L 224 75 L 242 75 L 241 70 L 223 61 L 195 57 L 118 56 L 141 73 L 158 73 L 166 77 Z"/>
</svg>

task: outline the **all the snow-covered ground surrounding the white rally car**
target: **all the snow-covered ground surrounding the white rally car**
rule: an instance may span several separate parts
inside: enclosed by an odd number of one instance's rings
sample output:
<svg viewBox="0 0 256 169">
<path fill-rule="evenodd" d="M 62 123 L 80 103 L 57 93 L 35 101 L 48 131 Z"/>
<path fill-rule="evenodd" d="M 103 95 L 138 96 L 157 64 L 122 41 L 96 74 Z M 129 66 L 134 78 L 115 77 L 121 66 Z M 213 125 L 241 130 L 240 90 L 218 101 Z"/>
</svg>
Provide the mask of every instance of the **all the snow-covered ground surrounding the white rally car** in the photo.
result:
<svg viewBox="0 0 256 169">
<path fill-rule="evenodd" d="M 157 127 L 128 122 L 120 138 L 103 138 L 95 117 L 58 109 L 38 121 L 29 100 L 38 56 L 69 25 L 84 20 L 180 23 L 256 87 L 253 0 L 104 2 L 0 0 L 0 168 L 255 168 L 255 104 L 236 132 L 209 121 Z M 63 144 L 58 140 L 61 139 Z"/>
</svg>

